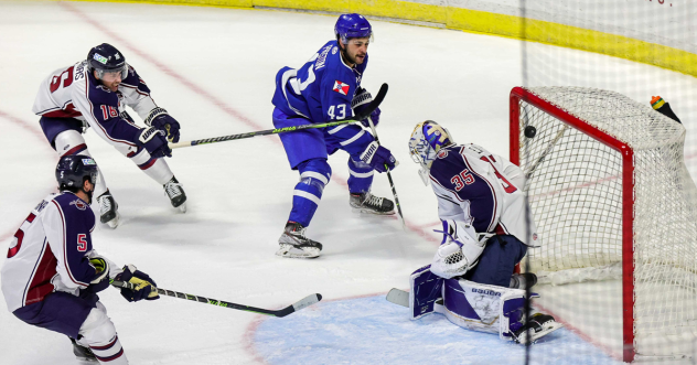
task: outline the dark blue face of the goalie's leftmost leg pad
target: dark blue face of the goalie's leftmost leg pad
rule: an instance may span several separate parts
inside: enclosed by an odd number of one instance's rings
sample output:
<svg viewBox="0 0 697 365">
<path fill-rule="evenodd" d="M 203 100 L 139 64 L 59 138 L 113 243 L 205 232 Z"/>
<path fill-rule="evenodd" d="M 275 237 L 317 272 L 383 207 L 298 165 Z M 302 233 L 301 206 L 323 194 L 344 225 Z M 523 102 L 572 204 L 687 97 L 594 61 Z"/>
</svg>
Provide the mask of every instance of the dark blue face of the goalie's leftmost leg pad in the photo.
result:
<svg viewBox="0 0 697 365">
<path fill-rule="evenodd" d="M 430 265 L 419 268 L 409 279 L 409 311 L 411 320 L 436 311 L 436 301 L 441 299 L 443 279 L 430 270 Z"/>
</svg>

